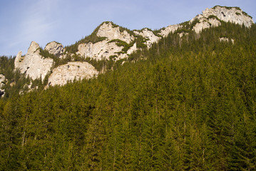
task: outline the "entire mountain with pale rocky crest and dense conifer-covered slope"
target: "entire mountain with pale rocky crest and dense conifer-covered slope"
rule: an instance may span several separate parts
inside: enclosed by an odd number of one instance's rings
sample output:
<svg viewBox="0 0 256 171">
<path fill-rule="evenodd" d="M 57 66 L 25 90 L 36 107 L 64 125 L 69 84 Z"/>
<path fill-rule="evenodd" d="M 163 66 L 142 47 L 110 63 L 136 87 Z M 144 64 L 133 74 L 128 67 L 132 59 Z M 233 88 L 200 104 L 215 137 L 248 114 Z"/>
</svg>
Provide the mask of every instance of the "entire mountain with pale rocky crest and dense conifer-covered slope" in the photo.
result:
<svg viewBox="0 0 256 171">
<path fill-rule="evenodd" d="M 0 170 L 255 170 L 252 22 L 215 6 L 1 56 Z"/>
</svg>

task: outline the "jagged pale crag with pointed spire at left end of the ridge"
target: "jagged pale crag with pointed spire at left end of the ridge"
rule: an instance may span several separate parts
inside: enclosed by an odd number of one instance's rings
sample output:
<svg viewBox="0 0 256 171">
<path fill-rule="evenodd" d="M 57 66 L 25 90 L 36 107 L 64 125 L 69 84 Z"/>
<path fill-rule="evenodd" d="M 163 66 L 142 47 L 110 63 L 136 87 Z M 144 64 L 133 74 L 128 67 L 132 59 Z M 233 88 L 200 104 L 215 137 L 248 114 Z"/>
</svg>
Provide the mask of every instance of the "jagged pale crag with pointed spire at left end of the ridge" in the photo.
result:
<svg viewBox="0 0 256 171">
<path fill-rule="evenodd" d="M 19 69 L 21 73 L 26 73 L 26 76 L 30 76 L 33 80 L 41 77 L 43 81 L 46 74 L 51 71 L 52 66 L 53 59 L 43 58 L 40 55 L 39 44 L 34 41 L 31 42 L 26 56 L 21 56 L 20 51 L 14 61 L 15 69 Z"/>
</svg>

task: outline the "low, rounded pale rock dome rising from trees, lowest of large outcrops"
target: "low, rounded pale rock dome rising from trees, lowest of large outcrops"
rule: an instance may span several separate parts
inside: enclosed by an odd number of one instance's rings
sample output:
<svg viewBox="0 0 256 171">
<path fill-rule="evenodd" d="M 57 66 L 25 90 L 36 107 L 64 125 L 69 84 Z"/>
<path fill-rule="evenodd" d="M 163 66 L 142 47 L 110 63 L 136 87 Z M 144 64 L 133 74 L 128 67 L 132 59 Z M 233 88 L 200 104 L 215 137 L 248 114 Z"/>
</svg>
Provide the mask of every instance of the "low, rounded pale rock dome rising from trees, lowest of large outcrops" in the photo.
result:
<svg viewBox="0 0 256 171">
<path fill-rule="evenodd" d="M 48 78 L 48 86 L 63 86 L 68 81 L 78 81 L 79 79 L 88 79 L 94 76 L 98 76 L 98 71 L 90 63 L 69 62 L 53 69 L 51 76 Z"/>
</svg>

